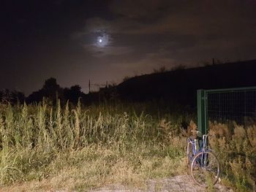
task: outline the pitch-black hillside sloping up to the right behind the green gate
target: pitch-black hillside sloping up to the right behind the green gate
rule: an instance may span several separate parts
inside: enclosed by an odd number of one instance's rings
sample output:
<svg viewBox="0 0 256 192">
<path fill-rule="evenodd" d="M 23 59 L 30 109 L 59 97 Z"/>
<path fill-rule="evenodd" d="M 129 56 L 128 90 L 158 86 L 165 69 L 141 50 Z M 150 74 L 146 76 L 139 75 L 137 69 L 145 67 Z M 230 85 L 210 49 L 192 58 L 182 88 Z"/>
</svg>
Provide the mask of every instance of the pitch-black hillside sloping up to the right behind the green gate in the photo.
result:
<svg viewBox="0 0 256 192">
<path fill-rule="evenodd" d="M 117 90 L 122 99 L 168 99 L 194 105 L 197 89 L 256 86 L 255 74 L 256 60 L 241 61 L 145 74 L 121 82 Z"/>
</svg>

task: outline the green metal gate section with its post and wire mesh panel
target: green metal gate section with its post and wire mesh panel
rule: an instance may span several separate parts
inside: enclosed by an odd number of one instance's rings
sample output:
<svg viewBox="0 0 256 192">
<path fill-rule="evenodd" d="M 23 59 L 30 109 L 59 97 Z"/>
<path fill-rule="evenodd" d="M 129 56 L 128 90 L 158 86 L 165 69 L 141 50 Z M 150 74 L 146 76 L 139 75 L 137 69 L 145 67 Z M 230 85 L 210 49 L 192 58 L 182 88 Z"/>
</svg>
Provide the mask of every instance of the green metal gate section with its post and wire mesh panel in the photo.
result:
<svg viewBox="0 0 256 192">
<path fill-rule="evenodd" d="M 201 130 L 207 130 L 209 120 L 218 123 L 235 121 L 244 126 L 256 123 L 256 87 L 206 90 L 201 93 L 203 96 L 199 98 L 205 105 L 201 107 L 197 104 L 203 110 L 197 113 L 197 123 L 202 125 L 202 128 L 199 126 Z"/>
</svg>

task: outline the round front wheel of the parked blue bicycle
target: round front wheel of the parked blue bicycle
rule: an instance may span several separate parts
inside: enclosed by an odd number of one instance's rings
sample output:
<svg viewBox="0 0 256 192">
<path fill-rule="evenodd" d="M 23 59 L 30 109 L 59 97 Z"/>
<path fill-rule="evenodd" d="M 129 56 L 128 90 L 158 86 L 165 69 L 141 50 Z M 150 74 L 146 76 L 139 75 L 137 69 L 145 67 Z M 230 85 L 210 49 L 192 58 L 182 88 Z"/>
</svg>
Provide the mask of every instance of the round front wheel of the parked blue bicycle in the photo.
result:
<svg viewBox="0 0 256 192">
<path fill-rule="evenodd" d="M 207 187 L 219 180 L 219 160 L 210 151 L 197 153 L 192 159 L 191 174 L 195 183 Z"/>
</svg>

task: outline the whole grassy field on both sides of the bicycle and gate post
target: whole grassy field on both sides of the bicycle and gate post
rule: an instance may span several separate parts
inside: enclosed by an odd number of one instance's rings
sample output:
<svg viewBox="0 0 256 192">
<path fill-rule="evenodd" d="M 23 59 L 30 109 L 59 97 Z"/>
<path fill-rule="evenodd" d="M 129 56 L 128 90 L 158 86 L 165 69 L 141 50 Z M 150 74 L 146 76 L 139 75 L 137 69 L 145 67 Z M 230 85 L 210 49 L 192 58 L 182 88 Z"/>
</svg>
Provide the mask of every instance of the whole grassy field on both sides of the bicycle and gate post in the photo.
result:
<svg viewBox="0 0 256 192">
<path fill-rule="evenodd" d="M 86 191 L 110 183 L 145 188 L 149 178 L 185 174 L 187 138 L 181 127 L 195 115 L 167 106 L 1 104 L 0 185 L 13 191 Z M 224 137 L 230 127 L 211 127 L 222 182 L 253 191 L 256 128 L 235 125 Z"/>
</svg>

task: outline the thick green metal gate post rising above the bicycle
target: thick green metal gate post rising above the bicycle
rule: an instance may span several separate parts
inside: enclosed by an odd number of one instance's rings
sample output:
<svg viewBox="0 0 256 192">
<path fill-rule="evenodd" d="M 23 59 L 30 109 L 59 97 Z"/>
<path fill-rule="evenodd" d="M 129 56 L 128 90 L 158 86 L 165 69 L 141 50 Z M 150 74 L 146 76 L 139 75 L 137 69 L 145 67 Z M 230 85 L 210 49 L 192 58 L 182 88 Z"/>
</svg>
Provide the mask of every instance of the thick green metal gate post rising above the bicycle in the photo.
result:
<svg viewBox="0 0 256 192">
<path fill-rule="evenodd" d="M 197 90 L 197 128 L 202 134 L 207 132 L 207 113 L 206 113 L 206 91 Z"/>
</svg>

